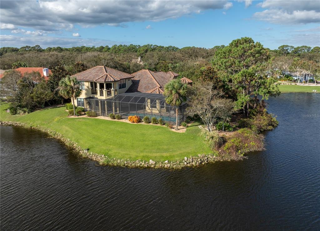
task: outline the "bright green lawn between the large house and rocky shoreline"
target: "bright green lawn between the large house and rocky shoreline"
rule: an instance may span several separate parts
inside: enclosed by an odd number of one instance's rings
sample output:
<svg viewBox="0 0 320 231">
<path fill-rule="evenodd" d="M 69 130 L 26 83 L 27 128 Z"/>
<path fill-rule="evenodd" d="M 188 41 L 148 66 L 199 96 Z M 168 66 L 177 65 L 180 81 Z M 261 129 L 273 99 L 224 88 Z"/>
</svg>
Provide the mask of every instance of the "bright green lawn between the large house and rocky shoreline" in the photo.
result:
<svg viewBox="0 0 320 231">
<path fill-rule="evenodd" d="M 77 142 L 89 152 L 116 159 L 181 160 L 185 156 L 212 153 L 197 135 L 194 123 L 185 133 L 164 126 L 130 124 L 96 118 L 69 118 L 65 107 L 43 109 L 27 115 L 10 115 L 1 103 L 0 120 L 40 125 Z"/>
</svg>

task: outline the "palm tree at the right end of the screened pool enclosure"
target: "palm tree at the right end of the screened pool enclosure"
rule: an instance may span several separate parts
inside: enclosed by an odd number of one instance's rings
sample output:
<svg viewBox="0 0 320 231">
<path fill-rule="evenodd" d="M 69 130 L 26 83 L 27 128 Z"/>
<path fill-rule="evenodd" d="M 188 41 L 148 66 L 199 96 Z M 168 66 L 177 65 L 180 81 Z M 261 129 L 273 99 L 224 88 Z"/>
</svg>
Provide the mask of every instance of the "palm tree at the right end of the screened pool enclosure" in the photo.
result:
<svg viewBox="0 0 320 231">
<path fill-rule="evenodd" d="M 187 84 L 181 83 L 180 79 L 173 79 L 164 86 L 165 102 L 176 106 L 176 130 L 178 130 L 178 109 L 187 101 Z"/>
</svg>

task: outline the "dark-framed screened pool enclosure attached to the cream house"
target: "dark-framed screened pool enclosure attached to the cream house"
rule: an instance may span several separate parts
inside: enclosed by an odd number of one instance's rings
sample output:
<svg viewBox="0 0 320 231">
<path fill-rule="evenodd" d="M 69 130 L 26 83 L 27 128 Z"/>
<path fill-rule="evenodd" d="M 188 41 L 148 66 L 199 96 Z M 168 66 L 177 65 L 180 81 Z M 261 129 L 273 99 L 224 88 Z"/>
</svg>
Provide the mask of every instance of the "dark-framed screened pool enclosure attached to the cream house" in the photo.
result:
<svg viewBox="0 0 320 231">
<path fill-rule="evenodd" d="M 84 109 L 94 111 L 97 115 L 107 116 L 111 113 L 127 118 L 129 115 L 138 115 L 162 118 L 165 122 L 176 123 L 176 107 L 165 102 L 165 96 L 152 93 L 122 93 L 115 97 L 100 100 L 97 98 L 86 98 Z M 186 119 L 185 109 L 187 103 L 179 107 L 179 124 Z"/>
</svg>

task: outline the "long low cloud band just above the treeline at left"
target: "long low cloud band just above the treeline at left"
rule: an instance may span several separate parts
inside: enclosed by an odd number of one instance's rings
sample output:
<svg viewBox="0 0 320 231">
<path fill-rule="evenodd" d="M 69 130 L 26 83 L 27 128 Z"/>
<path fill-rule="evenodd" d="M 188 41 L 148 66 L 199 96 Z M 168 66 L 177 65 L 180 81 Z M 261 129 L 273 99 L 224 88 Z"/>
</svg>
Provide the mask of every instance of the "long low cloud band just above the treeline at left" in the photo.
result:
<svg viewBox="0 0 320 231">
<path fill-rule="evenodd" d="M 74 47 L 74 46 L 112 46 L 115 44 L 131 44 L 132 42 L 112 41 L 103 39 L 82 39 L 82 38 L 65 38 L 49 36 L 17 36 L 17 35 L 0 35 L 1 46 L 3 47 L 22 47 L 26 45 L 34 46 L 39 44 L 42 48 L 47 47 Z"/>
</svg>

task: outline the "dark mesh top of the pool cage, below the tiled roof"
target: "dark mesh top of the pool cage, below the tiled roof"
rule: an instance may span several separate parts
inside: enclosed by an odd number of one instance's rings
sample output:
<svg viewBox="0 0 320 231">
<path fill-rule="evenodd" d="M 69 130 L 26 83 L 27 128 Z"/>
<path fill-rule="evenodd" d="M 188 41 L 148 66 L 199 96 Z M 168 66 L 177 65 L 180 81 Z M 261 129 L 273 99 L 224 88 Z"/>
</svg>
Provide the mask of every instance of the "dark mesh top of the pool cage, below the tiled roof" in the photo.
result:
<svg viewBox="0 0 320 231">
<path fill-rule="evenodd" d="M 106 101 L 121 102 L 121 103 L 137 103 L 137 104 L 145 104 L 146 102 L 149 101 L 149 104 L 156 104 L 156 103 L 164 104 L 165 96 L 161 94 L 141 93 L 141 92 L 122 93 L 122 94 L 116 95 L 115 97 L 106 99 Z M 184 105 L 185 103 L 186 102 L 184 102 L 182 105 Z"/>
</svg>

